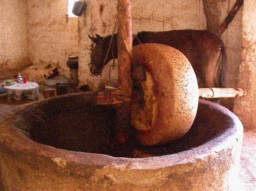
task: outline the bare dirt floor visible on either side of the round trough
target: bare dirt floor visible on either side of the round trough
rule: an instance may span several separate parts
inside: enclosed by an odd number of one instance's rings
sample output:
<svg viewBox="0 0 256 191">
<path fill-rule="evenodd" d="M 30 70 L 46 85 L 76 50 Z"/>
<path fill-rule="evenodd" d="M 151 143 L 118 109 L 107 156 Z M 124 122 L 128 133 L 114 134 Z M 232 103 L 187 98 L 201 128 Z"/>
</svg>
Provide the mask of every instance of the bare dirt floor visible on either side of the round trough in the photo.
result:
<svg viewBox="0 0 256 191">
<path fill-rule="evenodd" d="M 39 86 L 39 100 L 44 99 L 43 88 L 45 87 Z M 33 102 L 27 99 L 16 101 L 0 95 L 0 122 L 8 118 L 14 111 Z M 238 191 L 256 191 L 256 131 L 244 131 L 239 176 Z"/>
</svg>

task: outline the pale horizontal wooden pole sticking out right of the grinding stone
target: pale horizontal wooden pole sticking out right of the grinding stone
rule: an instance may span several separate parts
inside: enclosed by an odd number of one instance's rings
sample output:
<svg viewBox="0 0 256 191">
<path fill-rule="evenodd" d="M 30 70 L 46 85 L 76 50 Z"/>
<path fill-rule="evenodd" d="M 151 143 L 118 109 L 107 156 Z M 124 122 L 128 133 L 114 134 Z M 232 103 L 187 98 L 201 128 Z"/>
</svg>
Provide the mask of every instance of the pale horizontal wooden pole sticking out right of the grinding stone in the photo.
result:
<svg viewBox="0 0 256 191">
<path fill-rule="evenodd" d="M 200 98 L 234 98 L 246 95 L 242 88 L 199 88 L 198 91 Z"/>
</svg>

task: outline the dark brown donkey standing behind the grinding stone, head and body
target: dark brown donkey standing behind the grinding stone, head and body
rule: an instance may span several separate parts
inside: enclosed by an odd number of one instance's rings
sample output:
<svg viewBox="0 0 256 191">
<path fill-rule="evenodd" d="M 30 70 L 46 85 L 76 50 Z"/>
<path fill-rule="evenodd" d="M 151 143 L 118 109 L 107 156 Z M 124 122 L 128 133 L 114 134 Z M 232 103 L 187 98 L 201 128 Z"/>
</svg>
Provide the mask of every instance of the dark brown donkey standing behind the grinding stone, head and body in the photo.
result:
<svg viewBox="0 0 256 191">
<path fill-rule="evenodd" d="M 95 43 L 91 53 L 90 70 L 97 76 L 102 73 L 108 61 L 118 57 L 117 34 L 113 37 L 101 37 L 96 34 L 96 38 L 89 38 Z M 163 44 L 181 51 L 190 61 L 199 87 L 223 87 L 226 51 L 223 41 L 217 35 L 207 30 L 191 29 L 138 32 L 134 35 L 133 46 L 144 43 Z"/>
</svg>

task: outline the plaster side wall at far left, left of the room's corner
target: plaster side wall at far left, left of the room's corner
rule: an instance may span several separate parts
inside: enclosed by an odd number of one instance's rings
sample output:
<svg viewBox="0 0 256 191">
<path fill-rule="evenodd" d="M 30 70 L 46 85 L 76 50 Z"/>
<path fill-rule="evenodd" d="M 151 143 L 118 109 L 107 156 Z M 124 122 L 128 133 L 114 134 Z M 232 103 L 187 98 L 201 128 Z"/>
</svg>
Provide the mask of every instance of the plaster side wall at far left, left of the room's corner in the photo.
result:
<svg viewBox="0 0 256 191">
<path fill-rule="evenodd" d="M 0 1 L 0 70 L 29 65 L 26 0 Z"/>
</svg>

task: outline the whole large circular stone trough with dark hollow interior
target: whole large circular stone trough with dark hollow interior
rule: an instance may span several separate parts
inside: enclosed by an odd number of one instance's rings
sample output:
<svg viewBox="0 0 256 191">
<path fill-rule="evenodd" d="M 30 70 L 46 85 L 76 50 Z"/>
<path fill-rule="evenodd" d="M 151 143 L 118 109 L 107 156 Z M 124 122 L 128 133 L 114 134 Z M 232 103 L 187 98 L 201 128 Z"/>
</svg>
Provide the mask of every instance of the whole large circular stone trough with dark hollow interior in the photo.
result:
<svg viewBox="0 0 256 191">
<path fill-rule="evenodd" d="M 96 95 L 51 97 L 0 124 L 4 190 L 233 189 L 243 126 L 232 112 L 199 100 L 194 124 L 181 139 L 142 146 L 131 136 L 121 144 L 114 135 L 116 107 L 97 105 Z"/>
</svg>

